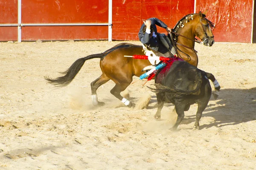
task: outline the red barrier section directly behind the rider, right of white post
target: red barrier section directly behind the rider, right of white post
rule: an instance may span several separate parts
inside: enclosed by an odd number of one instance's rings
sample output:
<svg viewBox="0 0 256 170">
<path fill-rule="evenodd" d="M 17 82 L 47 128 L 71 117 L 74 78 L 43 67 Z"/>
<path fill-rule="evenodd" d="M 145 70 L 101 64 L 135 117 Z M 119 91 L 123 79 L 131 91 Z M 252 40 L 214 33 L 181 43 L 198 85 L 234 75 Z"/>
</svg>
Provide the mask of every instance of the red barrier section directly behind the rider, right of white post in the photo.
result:
<svg viewBox="0 0 256 170">
<path fill-rule="evenodd" d="M 113 1 L 113 40 L 138 40 L 143 20 L 157 17 L 173 28 L 184 15 L 194 11 L 194 0 Z M 166 33 L 159 28 L 159 32 Z"/>
</svg>

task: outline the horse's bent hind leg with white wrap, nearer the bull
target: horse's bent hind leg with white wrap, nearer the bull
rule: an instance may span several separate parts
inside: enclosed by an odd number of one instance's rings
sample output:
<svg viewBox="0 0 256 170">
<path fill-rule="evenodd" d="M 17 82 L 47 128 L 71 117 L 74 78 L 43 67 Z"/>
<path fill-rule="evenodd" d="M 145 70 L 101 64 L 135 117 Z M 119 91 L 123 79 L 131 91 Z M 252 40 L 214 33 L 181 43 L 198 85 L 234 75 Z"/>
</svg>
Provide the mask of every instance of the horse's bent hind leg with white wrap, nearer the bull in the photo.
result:
<svg viewBox="0 0 256 170">
<path fill-rule="evenodd" d="M 117 99 L 122 101 L 129 108 L 134 108 L 135 104 L 130 102 L 128 99 L 124 98 L 120 94 L 122 91 L 124 91 L 128 87 L 128 85 L 130 85 L 130 83 L 131 82 L 129 82 L 129 83 L 122 83 L 122 84 L 116 84 L 115 87 L 113 87 L 111 89 L 110 93 L 113 94 Z"/>
</svg>

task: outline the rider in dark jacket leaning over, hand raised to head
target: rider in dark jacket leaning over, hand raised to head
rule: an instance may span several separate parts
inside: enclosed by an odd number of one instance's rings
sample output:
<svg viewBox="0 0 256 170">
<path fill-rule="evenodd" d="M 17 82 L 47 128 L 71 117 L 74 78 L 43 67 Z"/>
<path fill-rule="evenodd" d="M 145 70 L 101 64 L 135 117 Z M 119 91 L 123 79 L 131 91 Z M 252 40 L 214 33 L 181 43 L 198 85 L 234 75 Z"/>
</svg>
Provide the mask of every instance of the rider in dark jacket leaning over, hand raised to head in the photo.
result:
<svg viewBox="0 0 256 170">
<path fill-rule="evenodd" d="M 138 35 L 140 42 L 143 44 L 144 53 L 147 56 L 174 56 L 176 51 L 175 48 L 173 48 L 171 40 L 166 37 L 165 34 L 158 33 L 156 25 L 165 28 L 168 33 L 171 32 L 171 28 L 157 18 L 149 18 L 143 21 Z M 161 54 L 157 54 L 156 51 Z M 160 62 L 158 59 L 149 59 L 149 61 L 152 65 L 156 65 Z"/>
</svg>

